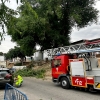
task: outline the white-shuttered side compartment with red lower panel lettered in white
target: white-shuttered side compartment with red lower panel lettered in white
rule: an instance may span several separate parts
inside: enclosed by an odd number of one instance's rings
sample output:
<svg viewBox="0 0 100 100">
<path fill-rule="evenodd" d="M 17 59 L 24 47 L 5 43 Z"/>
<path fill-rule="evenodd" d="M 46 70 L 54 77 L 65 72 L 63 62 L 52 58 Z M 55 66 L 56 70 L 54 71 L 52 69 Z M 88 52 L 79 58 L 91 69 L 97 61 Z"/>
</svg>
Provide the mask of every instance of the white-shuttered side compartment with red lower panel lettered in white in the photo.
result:
<svg viewBox="0 0 100 100">
<path fill-rule="evenodd" d="M 83 59 L 71 59 L 71 82 L 72 86 L 77 87 L 86 87 L 86 78 L 85 78 L 85 67 L 83 65 Z"/>
</svg>

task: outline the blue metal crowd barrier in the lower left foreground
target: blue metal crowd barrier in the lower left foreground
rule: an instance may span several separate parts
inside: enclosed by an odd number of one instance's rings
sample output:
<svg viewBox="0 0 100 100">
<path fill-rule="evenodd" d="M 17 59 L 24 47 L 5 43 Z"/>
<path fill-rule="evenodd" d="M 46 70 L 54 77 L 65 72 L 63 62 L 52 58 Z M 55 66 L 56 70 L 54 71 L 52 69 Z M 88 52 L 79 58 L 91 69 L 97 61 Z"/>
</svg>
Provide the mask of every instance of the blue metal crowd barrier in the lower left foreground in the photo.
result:
<svg viewBox="0 0 100 100">
<path fill-rule="evenodd" d="M 5 94 L 4 94 L 4 100 L 28 100 L 27 96 L 11 86 L 10 84 L 6 84 L 5 87 Z"/>
</svg>

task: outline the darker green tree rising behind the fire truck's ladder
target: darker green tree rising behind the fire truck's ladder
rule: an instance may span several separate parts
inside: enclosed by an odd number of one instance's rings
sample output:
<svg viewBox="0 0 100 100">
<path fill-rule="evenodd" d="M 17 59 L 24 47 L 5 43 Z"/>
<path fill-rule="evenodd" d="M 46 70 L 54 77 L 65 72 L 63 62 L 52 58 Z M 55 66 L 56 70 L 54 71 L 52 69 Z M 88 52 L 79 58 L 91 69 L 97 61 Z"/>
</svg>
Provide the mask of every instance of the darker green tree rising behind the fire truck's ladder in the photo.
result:
<svg viewBox="0 0 100 100">
<path fill-rule="evenodd" d="M 83 28 L 96 22 L 96 0 L 28 0 L 38 16 L 45 18 L 49 30 L 45 30 L 43 47 L 68 45 L 73 27 Z"/>
</svg>

